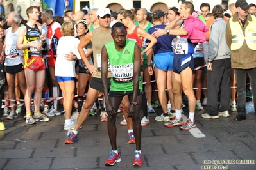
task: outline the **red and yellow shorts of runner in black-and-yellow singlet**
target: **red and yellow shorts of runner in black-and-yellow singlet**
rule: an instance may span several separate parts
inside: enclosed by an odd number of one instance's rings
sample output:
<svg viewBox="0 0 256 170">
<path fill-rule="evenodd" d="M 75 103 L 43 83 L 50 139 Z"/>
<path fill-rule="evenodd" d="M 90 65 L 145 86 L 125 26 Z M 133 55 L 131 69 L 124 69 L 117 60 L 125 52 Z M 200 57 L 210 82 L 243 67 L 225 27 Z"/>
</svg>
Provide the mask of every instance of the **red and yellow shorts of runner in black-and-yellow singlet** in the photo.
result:
<svg viewBox="0 0 256 170">
<path fill-rule="evenodd" d="M 26 68 L 34 70 L 35 72 L 46 70 L 46 65 L 44 64 L 44 59 L 42 57 L 32 57 L 28 59 L 26 63 Z"/>
</svg>

